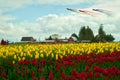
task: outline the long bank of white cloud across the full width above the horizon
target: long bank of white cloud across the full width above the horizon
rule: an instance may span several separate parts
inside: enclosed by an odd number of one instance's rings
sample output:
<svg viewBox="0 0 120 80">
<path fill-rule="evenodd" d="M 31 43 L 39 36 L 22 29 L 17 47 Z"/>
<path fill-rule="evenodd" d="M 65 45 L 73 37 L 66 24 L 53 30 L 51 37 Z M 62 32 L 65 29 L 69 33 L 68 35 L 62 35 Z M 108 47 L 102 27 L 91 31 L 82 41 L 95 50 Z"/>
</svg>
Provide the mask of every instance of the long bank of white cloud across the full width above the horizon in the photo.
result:
<svg viewBox="0 0 120 80">
<path fill-rule="evenodd" d="M 114 20 L 114 21 L 113 21 Z M 119 17 L 100 16 L 93 17 L 71 13 L 69 15 L 49 14 L 36 19 L 36 22 L 30 23 L 21 21 L 18 23 L 2 23 L 0 24 L 0 35 L 9 39 L 20 41 L 22 36 L 33 36 L 37 40 L 44 40 L 52 34 L 59 34 L 63 38 L 69 37 L 72 33 L 79 33 L 82 26 L 89 26 L 94 34 L 98 33 L 100 24 L 103 24 L 104 31 L 107 34 L 113 34 L 119 39 Z"/>
</svg>

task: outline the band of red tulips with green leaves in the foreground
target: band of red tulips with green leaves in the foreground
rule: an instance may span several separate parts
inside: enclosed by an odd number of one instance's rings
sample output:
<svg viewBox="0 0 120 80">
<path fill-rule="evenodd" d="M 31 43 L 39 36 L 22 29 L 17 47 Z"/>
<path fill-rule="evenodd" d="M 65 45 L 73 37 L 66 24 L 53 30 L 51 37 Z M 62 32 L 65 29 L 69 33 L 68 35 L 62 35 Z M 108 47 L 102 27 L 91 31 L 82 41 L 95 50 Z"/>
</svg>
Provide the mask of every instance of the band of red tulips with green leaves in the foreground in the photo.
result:
<svg viewBox="0 0 120 80">
<path fill-rule="evenodd" d="M 1 80 L 94 80 L 120 78 L 120 52 L 69 55 L 54 59 L 20 60 L 0 65 Z M 12 75 L 14 74 L 14 75 Z M 17 76 L 14 78 L 14 76 Z"/>
</svg>

